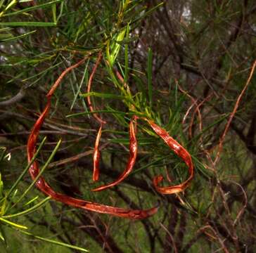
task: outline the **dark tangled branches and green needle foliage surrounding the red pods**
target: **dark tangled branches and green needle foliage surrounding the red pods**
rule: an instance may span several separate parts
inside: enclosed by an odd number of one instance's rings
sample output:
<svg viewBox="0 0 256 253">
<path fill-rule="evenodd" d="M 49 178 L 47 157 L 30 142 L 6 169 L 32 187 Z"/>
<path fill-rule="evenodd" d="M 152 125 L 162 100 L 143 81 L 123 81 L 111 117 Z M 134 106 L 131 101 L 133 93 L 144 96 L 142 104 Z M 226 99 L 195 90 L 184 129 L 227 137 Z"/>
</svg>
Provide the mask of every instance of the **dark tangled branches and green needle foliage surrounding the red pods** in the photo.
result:
<svg viewBox="0 0 256 253">
<path fill-rule="evenodd" d="M 46 5 L 37 8 L 41 4 Z M 31 214 L 8 219 L 27 226 L 30 237 L 0 221 L 1 252 L 78 250 L 51 246 L 36 235 L 90 252 L 255 252 L 255 76 L 218 154 L 256 59 L 255 1 L 0 1 L 0 6 L 3 219 L 44 199 L 33 187 L 18 202 L 32 182 L 28 174 L 6 195 L 27 165 L 27 138 L 44 109 L 47 91 L 66 67 L 88 53 L 91 58 L 63 79 L 42 126 L 39 141 L 43 136 L 47 141 L 37 157 L 41 166 L 62 138 L 44 176 L 56 190 L 107 205 L 145 209 L 160 202 L 151 218 L 129 221 L 50 200 Z M 181 183 L 188 174 L 183 162 L 141 121 L 134 172 L 115 188 L 91 193 L 96 186 L 91 154 L 98 124 L 81 94 L 86 93 L 98 51 L 103 61 L 93 91 L 101 95 L 91 99 L 97 110 L 104 110 L 101 115 L 108 124 L 101 138 L 97 185 L 116 179 L 129 155 L 129 94 L 115 84 L 109 47 L 110 53 L 119 48 L 113 69 L 122 72 L 129 85 L 136 112 L 154 119 L 191 153 L 196 176 L 184 193 L 160 195 L 153 188 L 155 175 L 162 173 L 167 186 Z M 120 94 L 127 98 L 117 99 Z"/>
</svg>

